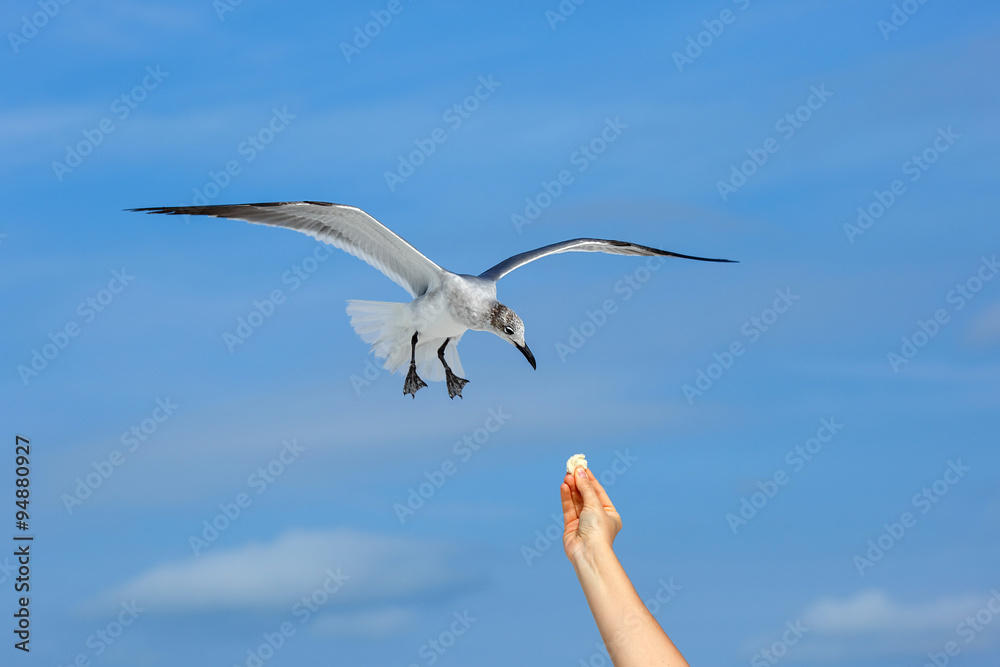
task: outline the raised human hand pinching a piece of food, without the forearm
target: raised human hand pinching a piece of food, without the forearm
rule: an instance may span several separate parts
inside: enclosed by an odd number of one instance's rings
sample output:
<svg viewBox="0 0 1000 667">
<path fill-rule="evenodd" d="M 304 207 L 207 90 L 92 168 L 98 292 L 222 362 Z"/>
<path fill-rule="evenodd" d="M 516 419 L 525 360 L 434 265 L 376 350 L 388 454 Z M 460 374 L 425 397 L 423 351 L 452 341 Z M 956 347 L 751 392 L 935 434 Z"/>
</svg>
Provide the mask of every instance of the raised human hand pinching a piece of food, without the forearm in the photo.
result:
<svg viewBox="0 0 1000 667">
<path fill-rule="evenodd" d="M 574 565 L 610 550 L 622 519 L 607 492 L 589 469 L 567 474 L 559 488 L 563 506 L 563 547 Z"/>
</svg>

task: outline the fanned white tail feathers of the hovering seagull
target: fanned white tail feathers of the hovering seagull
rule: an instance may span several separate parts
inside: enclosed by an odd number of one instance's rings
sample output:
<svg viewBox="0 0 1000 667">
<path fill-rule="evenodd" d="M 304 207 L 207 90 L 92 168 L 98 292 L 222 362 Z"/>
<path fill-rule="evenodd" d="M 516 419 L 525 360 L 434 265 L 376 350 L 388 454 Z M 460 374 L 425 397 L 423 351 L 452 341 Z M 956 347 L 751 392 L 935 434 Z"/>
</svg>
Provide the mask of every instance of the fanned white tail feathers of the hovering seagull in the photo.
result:
<svg viewBox="0 0 1000 667">
<path fill-rule="evenodd" d="M 409 368 L 410 340 L 414 332 L 409 304 L 351 300 L 347 302 L 347 314 L 361 340 L 371 344 L 371 351 L 376 357 L 385 359 L 383 368 L 393 373 L 402 373 Z M 455 349 L 459 339 L 461 336 L 451 339 L 444 357 L 452 372 L 462 377 L 462 362 Z M 444 367 L 437 357 L 442 343 L 443 338 L 417 341 L 417 374 L 424 380 L 444 379 Z"/>
</svg>

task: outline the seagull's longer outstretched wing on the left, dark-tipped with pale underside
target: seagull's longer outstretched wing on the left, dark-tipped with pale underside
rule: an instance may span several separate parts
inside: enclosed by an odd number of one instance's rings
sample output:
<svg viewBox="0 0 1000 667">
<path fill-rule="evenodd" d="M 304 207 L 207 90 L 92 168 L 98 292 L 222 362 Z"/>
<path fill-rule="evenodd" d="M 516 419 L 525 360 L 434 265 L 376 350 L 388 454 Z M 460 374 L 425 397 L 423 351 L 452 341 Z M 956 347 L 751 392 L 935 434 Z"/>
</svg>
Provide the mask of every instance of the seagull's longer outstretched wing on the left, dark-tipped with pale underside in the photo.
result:
<svg viewBox="0 0 1000 667">
<path fill-rule="evenodd" d="M 211 215 L 258 225 L 287 227 L 363 259 L 418 297 L 440 284 L 444 269 L 360 208 L 318 201 L 159 206 L 130 211 L 168 215 Z"/>
</svg>

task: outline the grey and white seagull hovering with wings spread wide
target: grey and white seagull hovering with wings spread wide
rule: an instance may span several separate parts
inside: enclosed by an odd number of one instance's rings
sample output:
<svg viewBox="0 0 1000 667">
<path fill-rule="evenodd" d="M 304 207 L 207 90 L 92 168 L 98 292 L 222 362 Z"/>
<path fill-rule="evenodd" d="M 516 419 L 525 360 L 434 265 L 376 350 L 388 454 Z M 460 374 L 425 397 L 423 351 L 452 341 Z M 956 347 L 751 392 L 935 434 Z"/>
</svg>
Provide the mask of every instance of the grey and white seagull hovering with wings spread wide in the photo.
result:
<svg viewBox="0 0 1000 667">
<path fill-rule="evenodd" d="M 703 262 L 732 262 L 657 250 L 627 241 L 571 239 L 508 257 L 478 276 L 443 269 L 388 227 L 356 206 L 318 201 L 212 206 L 159 206 L 127 209 L 166 215 L 208 215 L 245 220 L 257 225 L 285 227 L 308 234 L 364 260 L 413 297 L 409 303 L 384 301 L 347 302 L 351 326 L 372 352 L 385 359 L 393 373 L 409 363 L 403 395 L 416 398 L 427 386 L 417 374 L 431 381 L 443 377 L 448 396 L 462 397 L 468 383 L 455 346 L 462 335 L 487 331 L 520 350 L 531 367 L 535 355 L 524 342 L 524 323 L 513 310 L 497 301 L 497 281 L 536 259 L 562 252 L 604 252 L 612 255 L 663 256 Z M 450 346 L 449 346 L 450 343 Z M 440 364 L 435 363 L 435 358 Z M 443 371 L 443 373 L 442 373 Z"/>
</svg>

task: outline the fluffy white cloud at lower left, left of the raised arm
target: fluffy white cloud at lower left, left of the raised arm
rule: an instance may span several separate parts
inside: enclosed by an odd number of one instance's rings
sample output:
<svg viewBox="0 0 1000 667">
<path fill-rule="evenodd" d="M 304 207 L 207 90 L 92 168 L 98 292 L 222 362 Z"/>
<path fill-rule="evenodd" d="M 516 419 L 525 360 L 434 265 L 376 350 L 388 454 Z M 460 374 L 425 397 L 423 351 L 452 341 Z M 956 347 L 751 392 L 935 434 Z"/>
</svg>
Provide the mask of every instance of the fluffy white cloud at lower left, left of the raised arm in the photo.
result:
<svg viewBox="0 0 1000 667">
<path fill-rule="evenodd" d="M 135 599 L 150 612 L 288 611 L 329 577 L 344 575 L 329 605 L 440 595 L 472 583 L 448 544 L 349 529 L 295 530 L 267 544 L 218 549 L 158 565 L 103 595 L 103 609 Z M 384 621 L 384 619 L 383 619 Z"/>
</svg>

